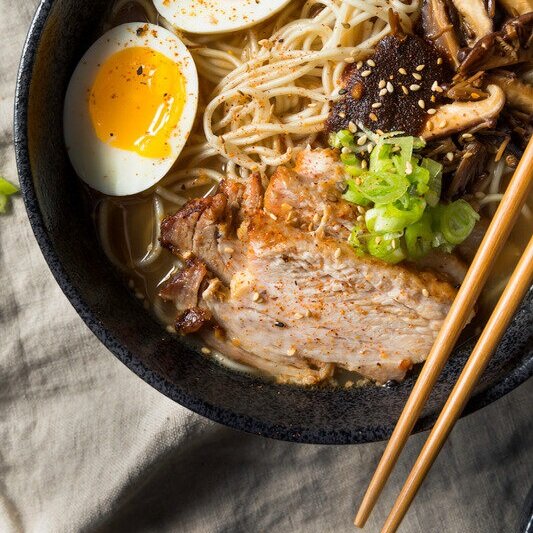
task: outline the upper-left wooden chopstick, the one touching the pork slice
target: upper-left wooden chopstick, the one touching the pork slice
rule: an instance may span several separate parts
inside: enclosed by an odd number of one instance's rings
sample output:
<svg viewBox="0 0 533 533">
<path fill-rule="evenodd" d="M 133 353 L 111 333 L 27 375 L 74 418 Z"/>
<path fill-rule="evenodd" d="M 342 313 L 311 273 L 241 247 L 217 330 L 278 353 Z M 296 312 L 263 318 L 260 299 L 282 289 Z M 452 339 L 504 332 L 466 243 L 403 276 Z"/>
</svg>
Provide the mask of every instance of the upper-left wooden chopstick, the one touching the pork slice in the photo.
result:
<svg viewBox="0 0 533 533">
<path fill-rule="evenodd" d="M 427 398 L 444 367 L 451 350 L 470 318 L 474 305 L 483 289 L 494 260 L 505 245 L 509 233 L 531 189 L 533 174 L 533 138 L 529 141 L 513 178 L 503 195 L 457 296 L 437 335 L 431 352 L 422 367 L 411 395 L 398 419 L 385 448 L 361 507 L 355 517 L 355 525 L 363 527 L 385 486 L 389 475 L 405 446 Z"/>
</svg>

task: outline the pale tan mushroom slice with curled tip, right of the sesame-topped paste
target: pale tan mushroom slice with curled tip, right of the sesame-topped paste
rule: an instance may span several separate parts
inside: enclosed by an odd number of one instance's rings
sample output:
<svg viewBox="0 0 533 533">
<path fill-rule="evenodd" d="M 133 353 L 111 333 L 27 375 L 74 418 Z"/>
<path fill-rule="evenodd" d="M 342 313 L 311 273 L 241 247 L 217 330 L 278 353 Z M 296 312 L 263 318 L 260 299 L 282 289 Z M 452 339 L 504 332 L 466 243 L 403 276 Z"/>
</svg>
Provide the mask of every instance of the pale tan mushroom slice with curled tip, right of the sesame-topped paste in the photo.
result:
<svg viewBox="0 0 533 533">
<path fill-rule="evenodd" d="M 436 139 L 474 126 L 489 126 L 505 104 L 505 94 L 497 85 L 487 87 L 489 96 L 475 102 L 452 102 L 437 109 L 430 116 L 422 132 L 425 140 Z"/>
</svg>

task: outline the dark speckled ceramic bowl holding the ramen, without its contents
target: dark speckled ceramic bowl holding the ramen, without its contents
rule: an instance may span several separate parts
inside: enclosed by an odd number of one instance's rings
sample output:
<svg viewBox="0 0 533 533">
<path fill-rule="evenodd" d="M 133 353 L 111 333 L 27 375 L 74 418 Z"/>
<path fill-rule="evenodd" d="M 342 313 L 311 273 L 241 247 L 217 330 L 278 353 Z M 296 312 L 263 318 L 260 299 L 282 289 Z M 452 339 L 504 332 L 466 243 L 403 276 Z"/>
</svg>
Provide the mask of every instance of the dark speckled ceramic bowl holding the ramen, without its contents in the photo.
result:
<svg viewBox="0 0 533 533">
<path fill-rule="evenodd" d="M 31 26 L 16 94 L 15 148 L 35 236 L 57 282 L 95 335 L 130 370 L 185 407 L 233 428 L 295 442 L 386 439 L 413 378 L 394 388 L 312 390 L 232 373 L 165 330 L 128 291 L 99 248 L 62 135 L 69 77 L 94 38 L 108 0 L 43 0 Z M 533 373 L 533 291 L 485 372 L 466 412 Z M 429 428 L 473 340 L 446 366 L 417 429 Z"/>
</svg>

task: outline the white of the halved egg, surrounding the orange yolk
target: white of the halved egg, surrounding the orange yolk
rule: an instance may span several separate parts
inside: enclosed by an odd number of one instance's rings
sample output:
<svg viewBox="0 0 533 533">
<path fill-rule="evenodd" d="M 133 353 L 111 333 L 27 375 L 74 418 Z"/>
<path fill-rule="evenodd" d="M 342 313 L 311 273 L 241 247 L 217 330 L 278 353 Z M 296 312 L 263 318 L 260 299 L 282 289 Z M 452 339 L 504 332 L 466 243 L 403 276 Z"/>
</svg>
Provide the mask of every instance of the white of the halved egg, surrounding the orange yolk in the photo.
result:
<svg viewBox="0 0 533 533">
<path fill-rule="evenodd" d="M 145 29 L 137 35 L 137 30 Z M 178 127 L 171 133 L 171 154 L 143 157 L 98 139 L 89 111 L 89 95 L 100 65 L 130 47 L 151 48 L 178 64 L 186 83 L 186 101 Z M 170 170 L 191 131 L 198 107 L 198 74 L 194 61 L 176 35 L 145 23 L 117 26 L 100 37 L 78 63 L 65 97 L 63 125 L 67 151 L 78 176 L 104 194 L 126 196 L 155 185 Z"/>
</svg>

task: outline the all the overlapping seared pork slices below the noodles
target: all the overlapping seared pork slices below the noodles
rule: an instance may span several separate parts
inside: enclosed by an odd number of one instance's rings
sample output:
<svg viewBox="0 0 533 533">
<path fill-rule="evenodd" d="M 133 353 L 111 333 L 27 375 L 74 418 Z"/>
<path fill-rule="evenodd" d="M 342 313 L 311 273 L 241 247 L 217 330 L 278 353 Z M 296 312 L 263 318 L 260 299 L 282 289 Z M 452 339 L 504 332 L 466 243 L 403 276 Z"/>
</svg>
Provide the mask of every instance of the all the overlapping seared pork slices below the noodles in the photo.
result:
<svg viewBox="0 0 533 533">
<path fill-rule="evenodd" d="M 199 282 L 189 263 L 162 296 L 177 286 L 179 299 L 191 280 L 185 294 L 194 318 L 205 311 L 206 343 L 281 381 L 317 383 L 335 365 L 402 379 L 427 357 L 455 290 L 434 273 L 355 254 L 346 236 L 357 212 L 341 198 L 337 168 L 331 151 L 303 152 L 272 177 L 264 207 L 255 176 L 167 217 L 163 246 L 206 270 Z M 183 330 L 188 311 L 178 308 Z"/>
</svg>

